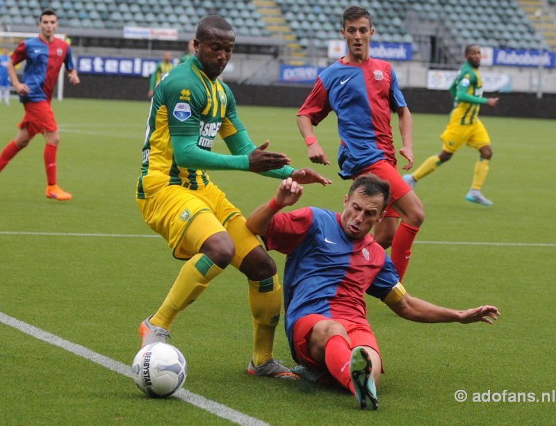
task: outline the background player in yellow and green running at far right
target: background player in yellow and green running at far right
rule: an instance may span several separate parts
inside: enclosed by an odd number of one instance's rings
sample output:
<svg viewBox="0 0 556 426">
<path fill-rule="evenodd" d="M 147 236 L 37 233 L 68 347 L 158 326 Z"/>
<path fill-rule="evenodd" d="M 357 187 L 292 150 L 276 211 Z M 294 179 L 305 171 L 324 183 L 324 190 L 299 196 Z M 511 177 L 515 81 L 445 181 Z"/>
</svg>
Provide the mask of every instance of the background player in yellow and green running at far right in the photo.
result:
<svg viewBox="0 0 556 426">
<path fill-rule="evenodd" d="M 467 193 L 466 199 L 483 206 L 491 206 L 491 200 L 486 199 L 481 193 L 482 184 L 489 173 L 492 147 L 489 133 L 486 133 L 479 120 L 479 108 L 481 104 L 497 106 L 498 98 L 482 97 L 482 81 L 478 69 L 481 65 L 480 47 L 477 44 L 469 44 L 465 48 L 465 58 L 466 63 L 459 69 L 459 74 L 450 86 L 455 106 L 450 113 L 448 126 L 440 136 L 443 141 L 442 151 L 427 158 L 413 174 L 404 174 L 404 180 L 414 189 L 420 179 L 450 160 L 455 151 L 465 143 L 468 147 L 478 149 L 480 153 L 480 158 L 475 163 L 471 190 Z"/>
</svg>

